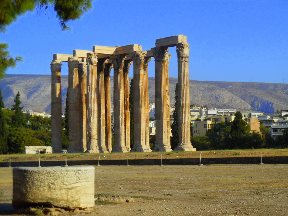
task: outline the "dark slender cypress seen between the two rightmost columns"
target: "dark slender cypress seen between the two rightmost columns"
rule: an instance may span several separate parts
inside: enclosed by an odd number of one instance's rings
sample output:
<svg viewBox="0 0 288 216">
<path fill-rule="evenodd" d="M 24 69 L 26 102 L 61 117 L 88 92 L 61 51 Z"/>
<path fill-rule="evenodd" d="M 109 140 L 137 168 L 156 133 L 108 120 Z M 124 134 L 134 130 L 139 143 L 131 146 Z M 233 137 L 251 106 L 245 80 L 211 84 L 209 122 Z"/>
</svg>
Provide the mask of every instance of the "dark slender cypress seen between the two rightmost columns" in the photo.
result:
<svg viewBox="0 0 288 216">
<path fill-rule="evenodd" d="M 172 132 L 172 137 L 171 137 L 171 149 L 175 149 L 178 145 L 179 142 L 179 129 L 178 129 L 178 83 L 176 84 L 175 87 L 175 110 L 173 112 L 173 123 L 171 126 L 171 132 Z"/>
</svg>

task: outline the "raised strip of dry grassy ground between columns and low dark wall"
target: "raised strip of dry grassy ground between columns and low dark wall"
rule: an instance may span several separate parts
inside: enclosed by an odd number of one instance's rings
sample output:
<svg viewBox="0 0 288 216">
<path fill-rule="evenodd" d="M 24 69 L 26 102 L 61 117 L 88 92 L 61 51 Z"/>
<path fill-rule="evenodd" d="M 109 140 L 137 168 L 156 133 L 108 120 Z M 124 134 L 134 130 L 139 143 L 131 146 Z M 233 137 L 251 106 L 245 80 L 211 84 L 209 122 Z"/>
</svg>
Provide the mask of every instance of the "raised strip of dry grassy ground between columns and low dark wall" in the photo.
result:
<svg viewBox="0 0 288 216">
<path fill-rule="evenodd" d="M 267 156 L 288 156 L 288 149 L 253 149 L 253 150 L 214 150 L 214 151 L 194 151 L 194 152 L 129 152 L 129 153 L 96 153 L 96 154 L 11 154 L 0 155 L 0 162 L 13 161 L 41 161 L 56 160 L 126 160 L 129 159 L 163 159 L 166 158 L 199 158 L 200 153 L 202 158 L 229 158 L 229 157 L 260 157 L 262 152 L 263 157 Z"/>
</svg>

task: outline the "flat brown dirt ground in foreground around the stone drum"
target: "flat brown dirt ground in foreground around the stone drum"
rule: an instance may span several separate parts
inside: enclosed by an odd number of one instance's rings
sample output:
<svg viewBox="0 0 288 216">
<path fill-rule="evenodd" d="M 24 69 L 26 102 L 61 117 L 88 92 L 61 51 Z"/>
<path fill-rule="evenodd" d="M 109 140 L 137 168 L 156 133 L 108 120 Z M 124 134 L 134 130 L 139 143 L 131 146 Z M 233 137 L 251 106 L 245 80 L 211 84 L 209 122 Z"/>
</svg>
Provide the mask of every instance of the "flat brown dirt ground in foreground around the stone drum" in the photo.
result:
<svg viewBox="0 0 288 216">
<path fill-rule="evenodd" d="M 288 215 L 288 165 L 95 166 L 95 194 L 134 202 L 83 215 Z M 12 168 L 0 168 L 0 209 L 11 203 Z"/>
</svg>

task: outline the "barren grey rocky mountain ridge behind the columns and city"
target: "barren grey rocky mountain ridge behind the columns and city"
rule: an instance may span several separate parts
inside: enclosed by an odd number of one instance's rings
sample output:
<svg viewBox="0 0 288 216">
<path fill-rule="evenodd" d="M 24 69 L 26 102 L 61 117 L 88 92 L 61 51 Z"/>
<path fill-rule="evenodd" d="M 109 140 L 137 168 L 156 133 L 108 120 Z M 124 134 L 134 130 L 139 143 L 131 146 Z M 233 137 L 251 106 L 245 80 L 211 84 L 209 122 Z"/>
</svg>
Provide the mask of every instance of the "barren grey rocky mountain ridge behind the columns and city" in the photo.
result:
<svg viewBox="0 0 288 216">
<path fill-rule="evenodd" d="M 132 78 L 130 78 L 132 79 Z M 170 106 L 175 103 L 177 78 L 170 77 Z M 62 111 L 65 110 L 68 76 L 61 76 Z M 17 92 L 24 109 L 51 111 L 50 75 L 12 75 L 0 79 L 5 106 L 12 107 Z M 155 80 L 148 78 L 149 101 L 155 101 Z M 111 77 L 111 98 L 113 104 L 113 77 Z M 288 84 L 254 82 L 211 82 L 190 80 L 190 104 L 205 105 L 208 108 L 234 108 L 236 110 L 257 110 L 274 113 L 277 109 L 288 109 Z"/>
</svg>

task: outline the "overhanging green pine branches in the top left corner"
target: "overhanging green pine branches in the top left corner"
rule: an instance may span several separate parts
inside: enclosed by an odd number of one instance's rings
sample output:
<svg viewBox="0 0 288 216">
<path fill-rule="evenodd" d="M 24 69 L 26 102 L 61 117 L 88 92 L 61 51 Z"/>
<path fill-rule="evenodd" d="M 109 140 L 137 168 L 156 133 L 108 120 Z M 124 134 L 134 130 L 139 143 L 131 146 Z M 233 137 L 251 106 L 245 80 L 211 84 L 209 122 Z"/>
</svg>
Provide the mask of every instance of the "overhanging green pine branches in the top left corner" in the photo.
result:
<svg viewBox="0 0 288 216">
<path fill-rule="evenodd" d="M 70 20 L 79 19 L 84 12 L 87 12 L 92 8 L 92 0 L 25 0 L 25 1 L 11 1 L 1 0 L 0 2 L 0 33 L 7 31 L 6 26 L 16 21 L 18 16 L 25 14 L 26 12 L 34 11 L 35 8 L 44 11 L 46 9 L 51 10 L 53 7 L 56 12 L 56 17 L 60 21 L 62 30 L 70 30 L 66 25 Z M 0 77 L 5 75 L 5 71 L 9 67 L 15 67 L 16 62 L 22 61 L 22 57 L 15 56 L 12 58 L 10 52 L 7 51 L 8 43 L 0 43 Z"/>
</svg>

